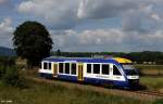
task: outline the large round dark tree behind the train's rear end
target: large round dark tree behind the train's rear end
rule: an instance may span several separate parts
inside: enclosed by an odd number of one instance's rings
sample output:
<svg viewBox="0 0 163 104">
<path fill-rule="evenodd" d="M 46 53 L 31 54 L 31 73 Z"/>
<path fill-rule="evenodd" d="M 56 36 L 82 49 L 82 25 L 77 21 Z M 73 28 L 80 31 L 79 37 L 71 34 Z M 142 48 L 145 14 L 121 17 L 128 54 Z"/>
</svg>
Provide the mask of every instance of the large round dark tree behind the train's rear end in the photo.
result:
<svg viewBox="0 0 163 104">
<path fill-rule="evenodd" d="M 25 22 L 13 32 L 13 44 L 16 54 L 27 60 L 28 68 L 50 55 L 52 39 L 43 25 L 37 22 Z"/>
</svg>

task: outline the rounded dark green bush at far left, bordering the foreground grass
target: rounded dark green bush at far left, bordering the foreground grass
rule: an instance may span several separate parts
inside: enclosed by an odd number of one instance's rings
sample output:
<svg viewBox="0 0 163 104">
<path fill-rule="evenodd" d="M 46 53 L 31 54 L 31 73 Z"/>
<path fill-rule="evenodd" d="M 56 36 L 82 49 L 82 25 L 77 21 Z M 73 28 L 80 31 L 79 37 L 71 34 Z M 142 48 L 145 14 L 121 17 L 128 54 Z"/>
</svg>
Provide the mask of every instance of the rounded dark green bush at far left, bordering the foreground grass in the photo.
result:
<svg viewBox="0 0 163 104">
<path fill-rule="evenodd" d="M 25 88 L 25 78 L 22 76 L 20 69 L 15 66 L 5 68 L 2 75 L 2 82 L 8 86 Z"/>
</svg>

